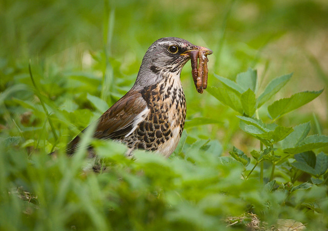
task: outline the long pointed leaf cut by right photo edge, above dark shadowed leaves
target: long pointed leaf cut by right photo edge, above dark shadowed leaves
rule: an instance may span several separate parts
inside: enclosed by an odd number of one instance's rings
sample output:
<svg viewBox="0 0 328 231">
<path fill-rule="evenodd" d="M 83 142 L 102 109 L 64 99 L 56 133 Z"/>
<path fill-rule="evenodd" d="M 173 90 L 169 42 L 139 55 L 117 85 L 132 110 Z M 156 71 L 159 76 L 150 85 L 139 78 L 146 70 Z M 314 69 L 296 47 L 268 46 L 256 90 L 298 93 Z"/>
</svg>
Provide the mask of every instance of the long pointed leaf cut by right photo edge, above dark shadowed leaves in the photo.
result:
<svg viewBox="0 0 328 231">
<path fill-rule="evenodd" d="M 328 136 L 325 135 L 312 135 L 306 137 L 302 142 L 300 142 L 295 148 L 284 149 L 286 153 L 300 153 L 306 152 L 313 149 L 322 148 L 328 145 Z"/>
</svg>

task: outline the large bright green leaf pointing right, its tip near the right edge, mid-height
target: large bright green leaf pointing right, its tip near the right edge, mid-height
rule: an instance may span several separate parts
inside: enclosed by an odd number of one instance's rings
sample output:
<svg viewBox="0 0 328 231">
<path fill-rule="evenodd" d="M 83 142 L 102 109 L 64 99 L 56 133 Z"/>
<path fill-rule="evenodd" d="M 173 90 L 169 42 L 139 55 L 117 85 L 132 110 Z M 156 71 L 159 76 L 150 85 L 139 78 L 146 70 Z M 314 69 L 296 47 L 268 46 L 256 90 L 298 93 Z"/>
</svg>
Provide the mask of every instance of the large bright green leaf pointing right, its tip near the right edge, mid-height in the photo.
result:
<svg viewBox="0 0 328 231">
<path fill-rule="evenodd" d="M 269 114 L 272 119 L 276 119 L 312 101 L 318 97 L 322 91 L 323 89 L 320 91 L 299 92 L 292 95 L 290 98 L 279 99 L 268 107 Z"/>
</svg>

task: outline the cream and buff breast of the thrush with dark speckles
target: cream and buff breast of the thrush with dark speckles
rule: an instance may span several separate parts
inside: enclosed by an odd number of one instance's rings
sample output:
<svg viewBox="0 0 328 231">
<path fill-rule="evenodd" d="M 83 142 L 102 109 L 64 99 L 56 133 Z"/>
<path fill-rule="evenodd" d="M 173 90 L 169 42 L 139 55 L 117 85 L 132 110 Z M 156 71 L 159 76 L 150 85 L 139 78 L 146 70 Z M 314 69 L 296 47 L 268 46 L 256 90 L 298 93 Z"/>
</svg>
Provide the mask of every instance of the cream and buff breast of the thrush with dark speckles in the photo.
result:
<svg viewBox="0 0 328 231">
<path fill-rule="evenodd" d="M 149 113 L 138 124 L 134 148 L 156 151 L 169 157 L 175 150 L 186 118 L 186 99 L 178 75 L 171 75 L 142 90 Z"/>
</svg>

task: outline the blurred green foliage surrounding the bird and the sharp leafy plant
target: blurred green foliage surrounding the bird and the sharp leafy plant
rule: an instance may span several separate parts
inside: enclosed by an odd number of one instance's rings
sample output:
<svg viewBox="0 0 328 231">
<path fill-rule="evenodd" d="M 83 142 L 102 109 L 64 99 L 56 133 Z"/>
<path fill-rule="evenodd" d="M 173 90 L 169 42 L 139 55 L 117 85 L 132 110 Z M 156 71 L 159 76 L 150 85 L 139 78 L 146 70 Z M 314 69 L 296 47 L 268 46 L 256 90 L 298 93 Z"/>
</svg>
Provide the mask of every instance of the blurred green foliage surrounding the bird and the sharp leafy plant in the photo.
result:
<svg viewBox="0 0 328 231">
<path fill-rule="evenodd" d="M 239 113 L 207 91 L 196 92 L 188 64 L 181 74 L 187 122 L 169 159 L 138 152 L 136 161 L 128 160 L 124 146 L 101 142 L 98 154 L 110 167 L 94 174 L 81 171 L 88 165 L 83 151 L 71 159 L 47 155 L 124 95 L 147 48 L 166 36 L 214 51 L 209 86 L 224 87 L 216 75 L 236 80 L 250 67 L 257 69 L 256 90 L 262 92 L 273 78 L 294 72 L 257 112 L 270 123 L 274 109 L 268 113 L 268 106 L 275 100 L 327 86 L 327 22 L 324 0 L 3 0 L 0 229 L 242 229 L 249 220 L 229 227 L 224 220 L 245 212 L 268 226 L 282 218 L 327 228 L 327 175 L 319 177 L 314 159 L 325 159 L 326 146 L 295 153 L 277 166 L 270 183 L 270 161 L 256 166 L 259 156 L 251 154 L 259 140 L 240 129 Z M 328 134 L 327 94 L 275 122 L 297 130 L 310 121 L 310 135 Z M 257 159 L 244 166 L 229 152 L 241 163 Z"/>
</svg>

